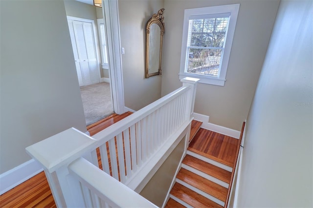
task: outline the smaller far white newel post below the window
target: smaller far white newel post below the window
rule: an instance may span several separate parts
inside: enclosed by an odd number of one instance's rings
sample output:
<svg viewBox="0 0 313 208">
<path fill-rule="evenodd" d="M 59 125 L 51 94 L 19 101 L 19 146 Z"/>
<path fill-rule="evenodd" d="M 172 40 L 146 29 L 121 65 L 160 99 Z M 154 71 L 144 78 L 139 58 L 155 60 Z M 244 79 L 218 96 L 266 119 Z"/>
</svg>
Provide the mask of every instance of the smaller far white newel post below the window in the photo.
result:
<svg viewBox="0 0 313 208">
<path fill-rule="evenodd" d="M 190 86 L 191 89 L 188 92 L 187 97 L 187 115 L 189 115 L 189 119 L 191 118 L 193 112 L 194 112 L 194 106 L 195 106 L 195 98 L 196 98 L 196 90 L 197 90 L 197 83 L 200 79 L 198 78 L 191 78 L 191 77 L 185 77 L 180 80 L 182 82 L 182 86 Z"/>
</svg>

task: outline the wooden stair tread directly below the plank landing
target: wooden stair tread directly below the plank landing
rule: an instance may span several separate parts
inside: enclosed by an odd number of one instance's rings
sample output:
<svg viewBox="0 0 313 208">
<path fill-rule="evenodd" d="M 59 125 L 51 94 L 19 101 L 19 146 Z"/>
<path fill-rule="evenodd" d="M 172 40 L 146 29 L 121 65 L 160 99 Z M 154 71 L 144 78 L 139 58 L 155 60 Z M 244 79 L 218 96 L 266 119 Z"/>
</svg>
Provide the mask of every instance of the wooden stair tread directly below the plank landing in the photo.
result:
<svg viewBox="0 0 313 208">
<path fill-rule="evenodd" d="M 183 164 L 187 166 L 191 166 L 197 170 L 200 170 L 208 175 L 211 175 L 225 183 L 230 182 L 231 172 L 224 170 L 220 167 L 214 166 L 212 164 L 206 163 L 198 158 L 192 157 L 190 155 L 186 155 L 182 161 Z"/>
</svg>

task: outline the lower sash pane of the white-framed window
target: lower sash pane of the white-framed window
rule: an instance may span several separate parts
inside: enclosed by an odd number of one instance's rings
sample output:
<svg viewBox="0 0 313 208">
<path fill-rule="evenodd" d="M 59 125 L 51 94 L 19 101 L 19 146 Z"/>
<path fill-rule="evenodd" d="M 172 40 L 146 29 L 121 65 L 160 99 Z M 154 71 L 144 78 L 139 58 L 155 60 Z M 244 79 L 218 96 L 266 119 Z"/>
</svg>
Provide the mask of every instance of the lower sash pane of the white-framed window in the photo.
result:
<svg viewBox="0 0 313 208">
<path fill-rule="evenodd" d="M 218 77 L 222 49 L 189 49 L 187 72 Z"/>
</svg>

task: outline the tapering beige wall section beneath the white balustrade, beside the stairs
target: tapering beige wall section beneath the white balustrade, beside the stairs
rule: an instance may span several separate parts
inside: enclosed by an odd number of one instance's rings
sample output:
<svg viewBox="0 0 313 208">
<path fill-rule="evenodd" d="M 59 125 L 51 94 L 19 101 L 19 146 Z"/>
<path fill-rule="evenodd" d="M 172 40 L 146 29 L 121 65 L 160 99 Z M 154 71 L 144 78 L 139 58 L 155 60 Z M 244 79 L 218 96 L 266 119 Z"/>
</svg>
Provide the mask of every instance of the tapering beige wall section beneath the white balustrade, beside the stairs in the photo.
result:
<svg viewBox="0 0 313 208">
<path fill-rule="evenodd" d="M 163 205 L 167 191 L 171 186 L 179 161 L 184 152 L 184 147 L 185 140 L 182 139 L 140 192 L 141 196 L 158 207 L 162 207 Z"/>
</svg>

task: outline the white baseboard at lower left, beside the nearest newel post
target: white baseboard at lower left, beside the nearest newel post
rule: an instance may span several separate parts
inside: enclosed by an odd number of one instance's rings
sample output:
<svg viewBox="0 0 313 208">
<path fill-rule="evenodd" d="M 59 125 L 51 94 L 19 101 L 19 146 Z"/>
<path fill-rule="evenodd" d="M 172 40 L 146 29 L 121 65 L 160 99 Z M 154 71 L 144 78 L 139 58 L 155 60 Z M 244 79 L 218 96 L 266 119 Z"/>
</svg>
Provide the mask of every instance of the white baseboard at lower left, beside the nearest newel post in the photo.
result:
<svg viewBox="0 0 313 208">
<path fill-rule="evenodd" d="M 22 184 L 43 171 L 43 167 L 34 159 L 14 167 L 0 175 L 0 195 Z"/>
</svg>

